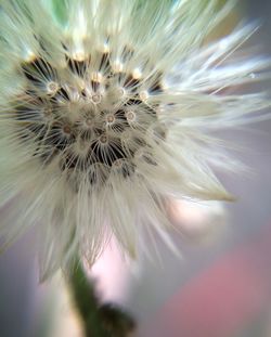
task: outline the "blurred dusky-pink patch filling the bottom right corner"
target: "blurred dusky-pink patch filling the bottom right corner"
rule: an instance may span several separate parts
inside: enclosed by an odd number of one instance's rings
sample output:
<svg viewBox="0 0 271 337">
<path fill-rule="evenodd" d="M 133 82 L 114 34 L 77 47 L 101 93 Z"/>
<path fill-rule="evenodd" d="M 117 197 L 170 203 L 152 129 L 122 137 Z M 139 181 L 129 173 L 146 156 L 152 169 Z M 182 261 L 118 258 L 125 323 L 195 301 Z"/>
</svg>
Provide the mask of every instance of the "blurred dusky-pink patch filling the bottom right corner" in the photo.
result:
<svg viewBox="0 0 271 337">
<path fill-rule="evenodd" d="M 271 310 L 270 256 L 271 225 L 184 285 L 142 326 L 140 336 L 241 336 Z M 262 335 L 251 336 L 271 336 L 268 319 Z"/>
</svg>

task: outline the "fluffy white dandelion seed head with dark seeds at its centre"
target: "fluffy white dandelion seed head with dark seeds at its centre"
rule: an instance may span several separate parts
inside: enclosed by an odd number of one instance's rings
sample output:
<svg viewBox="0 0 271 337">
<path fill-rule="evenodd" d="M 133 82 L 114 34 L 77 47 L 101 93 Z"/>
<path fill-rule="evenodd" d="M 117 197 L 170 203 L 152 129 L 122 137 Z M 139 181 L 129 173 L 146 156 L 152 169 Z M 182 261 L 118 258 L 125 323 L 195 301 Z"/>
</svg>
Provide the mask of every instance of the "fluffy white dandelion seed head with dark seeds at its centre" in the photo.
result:
<svg viewBox="0 0 271 337">
<path fill-rule="evenodd" d="M 211 131 L 270 104 L 242 93 L 269 65 L 241 48 L 256 27 L 209 39 L 234 1 L 62 2 L 0 7 L 0 233 L 38 228 L 41 277 L 111 235 L 133 258 L 142 231 L 169 242 L 168 199 L 230 200 Z"/>
</svg>

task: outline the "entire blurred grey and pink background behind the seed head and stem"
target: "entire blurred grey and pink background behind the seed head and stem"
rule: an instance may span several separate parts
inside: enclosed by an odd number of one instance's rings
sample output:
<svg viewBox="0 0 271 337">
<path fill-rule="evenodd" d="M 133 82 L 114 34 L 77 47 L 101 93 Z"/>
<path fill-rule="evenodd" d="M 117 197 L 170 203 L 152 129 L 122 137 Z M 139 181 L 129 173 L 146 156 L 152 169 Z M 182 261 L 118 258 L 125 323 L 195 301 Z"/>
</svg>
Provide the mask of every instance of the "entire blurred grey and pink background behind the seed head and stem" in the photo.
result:
<svg viewBox="0 0 271 337">
<path fill-rule="evenodd" d="M 251 44 L 271 55 L 271 2 L 242 7 L 241 16 L 261 23 Z M 93 268 L 100 297 L 137 319 L 137 336 L 271 337 L 271 120 L 224 137 L 243 145 L 240 157 L 251 168 L 220 176 L 237 196 L 227 205 L 227 225 L 217 205 L 178 204 L 172 217 L 186 234 L 173 235 L 181 259 L 158 241 L 159 263 L 127 265 L 113 244 Z M 38 284 L 31 243 L 29 233 L 0 255 L 0 336 L 81 336 L 61 278 Z"/>
</svg>

